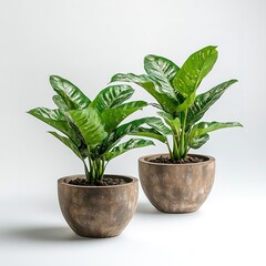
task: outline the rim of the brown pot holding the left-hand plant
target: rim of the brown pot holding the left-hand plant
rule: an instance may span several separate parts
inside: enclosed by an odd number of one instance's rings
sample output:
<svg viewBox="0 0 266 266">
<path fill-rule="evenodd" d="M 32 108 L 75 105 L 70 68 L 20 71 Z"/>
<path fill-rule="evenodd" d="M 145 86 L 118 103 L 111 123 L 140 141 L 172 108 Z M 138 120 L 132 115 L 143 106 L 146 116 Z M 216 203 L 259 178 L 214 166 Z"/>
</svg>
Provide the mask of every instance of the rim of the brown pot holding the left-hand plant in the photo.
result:
<svg viewBox="0 0 266 266">
<path fill-rule="evenodd" d="M 74 177 L 83 177 L 85 176 L 84 174 L 74 174 L 74 175 L 66 175 L 64 177 L 60 177 L 58 180 L 58 185 L 65 185 L 65 186 L 71 186 L 71 187 L 76 187 L 76 188 L 84 188 L 84 190 L 106 190 L 106 188 L 119 188 L 122 186 L 130 186 L 134 183 L 137 183 L 139 180 L 136 177 L 130 176 L 130 175 L 120 175 L 120 174 L 104 174 L 103 176 L 109 176 L 109 177 L 125 177 L 125 178 L 130 178 L 131 182 L 125 183 L 125 184 L 120 184 L 120 185 L 108 185 L 108 186 L 82 186 L 82 185 L 72 185 L 65 182 L 65 180 L 71 180 Z"/>
</svg>

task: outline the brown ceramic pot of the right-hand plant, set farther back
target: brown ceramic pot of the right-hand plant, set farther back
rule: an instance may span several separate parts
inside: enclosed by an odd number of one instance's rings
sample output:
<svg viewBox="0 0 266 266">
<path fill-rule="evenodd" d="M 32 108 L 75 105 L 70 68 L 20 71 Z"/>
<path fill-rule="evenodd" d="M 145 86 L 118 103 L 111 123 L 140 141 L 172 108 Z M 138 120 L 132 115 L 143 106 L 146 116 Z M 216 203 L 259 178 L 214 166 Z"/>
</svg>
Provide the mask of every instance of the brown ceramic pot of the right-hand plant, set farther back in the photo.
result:
<svg viewBox="0 0 266 266">
<path fill-rule="evenodd" d="M 164 213 L 192 213 L 207 198 L 214 182 L 215 158 L 188 164 L 151 163 L 150 160 L 168 154 L 153 154 L 139 160 L 142 188 L 158 211 Z"/>
</svg>

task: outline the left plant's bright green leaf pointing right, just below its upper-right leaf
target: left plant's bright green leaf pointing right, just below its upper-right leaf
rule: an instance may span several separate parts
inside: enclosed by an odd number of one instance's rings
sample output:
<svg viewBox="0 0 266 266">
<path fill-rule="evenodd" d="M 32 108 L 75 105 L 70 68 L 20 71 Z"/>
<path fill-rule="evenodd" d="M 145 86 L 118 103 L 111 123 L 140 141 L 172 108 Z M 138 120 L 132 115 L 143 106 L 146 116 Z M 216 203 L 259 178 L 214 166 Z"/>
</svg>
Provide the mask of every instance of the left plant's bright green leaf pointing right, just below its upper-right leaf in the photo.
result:
<svg viewBox="0 0 266 266">
<path fill-rule="evenodd" d="M 125 117 L 135 111 L 140 110 L 140 108 L 131 108 L 131 109 L 108 109 L 102 112 L 102 120 L 104 122 L 104 129 L 106 132 L 113 131 Z"/>
</svg>

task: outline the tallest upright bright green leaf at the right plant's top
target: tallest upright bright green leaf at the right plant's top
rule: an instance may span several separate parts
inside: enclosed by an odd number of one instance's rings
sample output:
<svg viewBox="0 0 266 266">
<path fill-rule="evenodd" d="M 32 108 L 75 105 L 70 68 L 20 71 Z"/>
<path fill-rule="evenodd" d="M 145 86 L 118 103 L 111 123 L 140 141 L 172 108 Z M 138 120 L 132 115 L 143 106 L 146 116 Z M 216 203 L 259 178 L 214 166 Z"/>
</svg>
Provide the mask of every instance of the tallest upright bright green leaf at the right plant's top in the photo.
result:
<svg viewBox="0 0 266 266">
<path fill-rule="evenodd" d="M 213 69 L 217 57 L 216 47 L 206 47 L 193 53 L 174 79 L 175 90 L 185 98 L 195 92 L 201 81 Z"/>
</svg>

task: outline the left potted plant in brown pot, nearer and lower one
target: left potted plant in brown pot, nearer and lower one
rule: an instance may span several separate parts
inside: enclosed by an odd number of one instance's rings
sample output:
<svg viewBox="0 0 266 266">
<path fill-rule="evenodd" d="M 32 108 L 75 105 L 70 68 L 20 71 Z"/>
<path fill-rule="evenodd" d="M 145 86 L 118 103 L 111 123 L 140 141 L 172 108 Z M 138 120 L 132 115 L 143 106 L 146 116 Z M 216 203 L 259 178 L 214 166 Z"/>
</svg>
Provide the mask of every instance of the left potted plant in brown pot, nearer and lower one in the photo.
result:
<svg viewBox="0 0 266 266">
<path fill-rule="evenodd" d="M 111 85 L 91 101 L 78 86 L 57 75 L 50 78 L 58 109 L 37 108 L 29 114 L 64 135 L 49 132 L 82 161 L 84 175 L 58 181 L 59 203 L 70 227 L 80 236 L 119 235 L 132 218 L 137 202 L 137 180 L 105 175 L 108 163 L 129 150 L 153 145 L 152 141 L 121 139 L 137 126 L 156 122 L 156 117 L 134 120 L 122 125 L 130 114 L 146 105 L 126 102 L 134 90 L 130 85 Z"/>
</svg>

